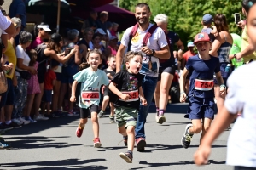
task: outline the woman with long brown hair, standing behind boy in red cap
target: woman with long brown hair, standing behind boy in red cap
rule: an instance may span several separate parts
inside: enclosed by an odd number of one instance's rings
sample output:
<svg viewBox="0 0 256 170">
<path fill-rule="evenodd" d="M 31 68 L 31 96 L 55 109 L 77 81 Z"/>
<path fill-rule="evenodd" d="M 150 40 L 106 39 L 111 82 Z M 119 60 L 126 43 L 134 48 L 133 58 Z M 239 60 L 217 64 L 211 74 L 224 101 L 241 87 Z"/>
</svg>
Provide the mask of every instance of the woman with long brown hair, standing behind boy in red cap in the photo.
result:
<svg viewBox="0 0 256 170">
<path fill-rule="evenodd" d="M 224 14 L 215 15 L 214 25 L 218 30 L 218 36 L 212 43 L 212 50 L 210 51 L 210 54 L 218 57 L 221 76 L 223 77 L 224 85 L 226 86 L 227 79 L 230 76 L 230 71 L 225 71 L 225 68 L 230 63 L 229 54 L 233 44 L 233 39 L 230 35 L 229 26 Z M 220 86 L 218 85 L 218 82 L 214 79 L 214 94 L 215 99 L 217 100 L 218 111 L 223 107 L 225 99 L 225 95 L 220 95 L 219 88 Z"/>
</svg>

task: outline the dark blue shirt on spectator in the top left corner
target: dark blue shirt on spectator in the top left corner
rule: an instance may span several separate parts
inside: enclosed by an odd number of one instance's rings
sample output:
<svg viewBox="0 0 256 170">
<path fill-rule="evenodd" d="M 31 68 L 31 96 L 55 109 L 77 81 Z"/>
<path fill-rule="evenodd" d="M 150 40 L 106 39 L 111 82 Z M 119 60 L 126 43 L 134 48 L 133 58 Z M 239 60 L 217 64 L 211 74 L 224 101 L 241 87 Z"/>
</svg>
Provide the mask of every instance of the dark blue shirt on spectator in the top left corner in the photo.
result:
<svg viewBox="0 0 256 170">
<path fill-rule="evenodd" d="M 21 26 L 26 27 L 26 5 L 23 0 L 13 0 L 9 6 L 9 18 L 20 15 Z"/>
</svg>

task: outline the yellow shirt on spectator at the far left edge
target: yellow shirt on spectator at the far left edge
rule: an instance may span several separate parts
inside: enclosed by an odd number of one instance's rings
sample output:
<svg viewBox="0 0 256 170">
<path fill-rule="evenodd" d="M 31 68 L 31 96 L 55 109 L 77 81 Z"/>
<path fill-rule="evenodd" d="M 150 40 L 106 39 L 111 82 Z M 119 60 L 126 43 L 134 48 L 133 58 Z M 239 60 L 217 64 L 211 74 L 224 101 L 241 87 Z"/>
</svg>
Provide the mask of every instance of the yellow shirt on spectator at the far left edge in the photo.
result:
<svg viewBox="0 0 256 170">
<path fill-rule="evenodd" d="M 6 77 L 8 78 L 13 78 L 14 74 L 15 74 L 15 68 L 17 65 L 17 57 L 15 54 L 15 48 L 13 47 L 13 45 L 8 41 L 8 47 L 5 51 L 5 53 L 3 53 L 6 57 L 9 63 L 14 64 L 14 68 L 8 73 L 6 74 Z"/>
</svg>

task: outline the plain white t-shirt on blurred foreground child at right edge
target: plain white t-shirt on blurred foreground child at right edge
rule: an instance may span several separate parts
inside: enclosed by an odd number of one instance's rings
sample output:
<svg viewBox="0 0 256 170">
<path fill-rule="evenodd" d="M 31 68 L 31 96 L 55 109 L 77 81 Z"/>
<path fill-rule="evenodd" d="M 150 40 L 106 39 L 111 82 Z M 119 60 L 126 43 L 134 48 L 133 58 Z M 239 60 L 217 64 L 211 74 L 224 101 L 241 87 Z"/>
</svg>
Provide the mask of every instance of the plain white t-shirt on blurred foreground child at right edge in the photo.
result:
<svg viewBox="0 0 256 170">
<path fill-rule="evenodd" d="M 256 61 L 232 72 L 224 105 L 231 114 L 242 111 L 228 140 L 228 165 L 256 167 Z"/>
</svg>

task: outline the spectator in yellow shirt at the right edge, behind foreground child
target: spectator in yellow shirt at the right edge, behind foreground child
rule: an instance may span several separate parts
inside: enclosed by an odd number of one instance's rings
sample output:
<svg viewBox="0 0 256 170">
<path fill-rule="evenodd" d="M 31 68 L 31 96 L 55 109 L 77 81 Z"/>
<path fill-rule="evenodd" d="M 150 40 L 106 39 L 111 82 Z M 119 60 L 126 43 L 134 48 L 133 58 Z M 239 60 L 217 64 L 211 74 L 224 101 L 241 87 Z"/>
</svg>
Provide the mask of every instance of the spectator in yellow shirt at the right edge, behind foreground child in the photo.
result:
<svg viewBox="0 0 256 170">
<path fill-rule="evenodd" d="M 256 3 L 256 0 L 243 0 L 241 3 L 242 6 L 242 14 L 247 16 L 247 13 L 249 9 L 253 6 L 253 3 Z M 243 21 L 239 22 L 241 25 Z M 255 48 L 253 47 L 253 44 L 250 42 L 250 37 L 248 37 L 247 34 L 247 26 L 244 24 L 242 27 L 244 27 L 241 38 L 241 52 L 234 54 L 232 58 L 236 57 L 236 59 L 244 59 L 244 62 L 247 63 L 250 60 L 256 60 L 256 52 Z"/>
</svg>

